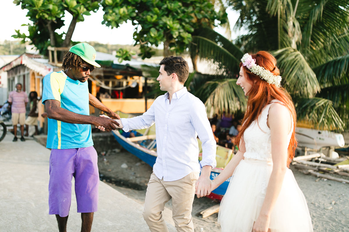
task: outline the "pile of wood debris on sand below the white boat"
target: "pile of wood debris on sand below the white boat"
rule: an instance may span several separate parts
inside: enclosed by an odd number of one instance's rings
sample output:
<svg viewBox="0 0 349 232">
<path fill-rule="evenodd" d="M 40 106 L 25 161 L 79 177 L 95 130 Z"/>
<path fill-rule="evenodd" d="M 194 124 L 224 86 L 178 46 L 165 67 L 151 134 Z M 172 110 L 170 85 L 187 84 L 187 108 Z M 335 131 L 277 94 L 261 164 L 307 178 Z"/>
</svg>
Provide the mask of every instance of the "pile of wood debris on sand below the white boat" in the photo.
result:
<svg viewBox="0 0 349 232">
<path fill-rule="evenodd" d="M 304 174 L 349 183 L 349 156 L 329 158 L 322 153 L 314 153 L 293 158 L 291 165 Z"/>
</svg>

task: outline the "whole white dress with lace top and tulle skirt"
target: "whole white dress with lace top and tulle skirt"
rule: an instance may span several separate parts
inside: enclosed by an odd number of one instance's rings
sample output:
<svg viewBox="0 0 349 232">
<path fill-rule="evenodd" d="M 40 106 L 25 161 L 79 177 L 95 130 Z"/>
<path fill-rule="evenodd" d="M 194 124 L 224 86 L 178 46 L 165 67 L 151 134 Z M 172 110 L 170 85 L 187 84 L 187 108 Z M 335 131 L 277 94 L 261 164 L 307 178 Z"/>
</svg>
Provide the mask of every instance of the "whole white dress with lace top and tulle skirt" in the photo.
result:
<svg viewBox="0 0 349 232">
<path fill-rule="evenodd" d="M 233 173 L 218 214 L 222 232 L 251 232 L 259 216 L 273 168 L 270 129 L 267 126 L 271 104 L 263 109 L 258 124 L 254 121 L 245 130 L 244 160 Z M 288 135 L 290 138 L 291 133 Z M 286 171 L 270 216 L 269 228 L 272 232 L 313 231 L 307 203 L 290 169 Z"/>
</svg>

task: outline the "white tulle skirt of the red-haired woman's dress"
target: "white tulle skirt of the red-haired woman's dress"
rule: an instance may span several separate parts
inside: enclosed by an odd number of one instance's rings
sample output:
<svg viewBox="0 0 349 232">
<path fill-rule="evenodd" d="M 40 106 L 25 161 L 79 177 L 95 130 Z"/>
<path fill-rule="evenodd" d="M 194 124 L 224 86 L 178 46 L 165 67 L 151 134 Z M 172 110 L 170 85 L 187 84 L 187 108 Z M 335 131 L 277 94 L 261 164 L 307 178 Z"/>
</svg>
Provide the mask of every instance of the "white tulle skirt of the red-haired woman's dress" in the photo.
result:
<svg viewBox="0 0 349 232">
<path fill-rule="evenodd" d="M 218 214 L 222 232 L 251 232 L 265 198 L 272 162 L 244 159 L 236 167 Z M 290 169 L 287 169 L 270 215 L 272 232 L 313 231 L 309 209 Z"/>
</svg>

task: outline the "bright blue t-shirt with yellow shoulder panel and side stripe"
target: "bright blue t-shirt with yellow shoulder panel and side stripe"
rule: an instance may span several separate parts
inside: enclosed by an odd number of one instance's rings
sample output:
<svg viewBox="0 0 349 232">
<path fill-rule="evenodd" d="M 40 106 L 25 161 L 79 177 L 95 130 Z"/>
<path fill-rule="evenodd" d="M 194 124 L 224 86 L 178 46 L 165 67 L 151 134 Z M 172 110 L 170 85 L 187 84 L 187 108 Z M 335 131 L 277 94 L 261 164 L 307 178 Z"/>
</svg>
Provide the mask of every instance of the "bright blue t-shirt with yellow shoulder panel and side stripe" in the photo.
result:
<svg viewBox="0 0 349 232">
<path fill-rule="evenodd" d="M 63 71 L 51 72 L 44 77 L 42 103 L 54 99 L 63 109 L 89 115 L 89 91 L 87 81 L 70 79 Z M 47 119 L 47 148 L 70 149 L 93 145 L 91 126 Z"/>
</svg>

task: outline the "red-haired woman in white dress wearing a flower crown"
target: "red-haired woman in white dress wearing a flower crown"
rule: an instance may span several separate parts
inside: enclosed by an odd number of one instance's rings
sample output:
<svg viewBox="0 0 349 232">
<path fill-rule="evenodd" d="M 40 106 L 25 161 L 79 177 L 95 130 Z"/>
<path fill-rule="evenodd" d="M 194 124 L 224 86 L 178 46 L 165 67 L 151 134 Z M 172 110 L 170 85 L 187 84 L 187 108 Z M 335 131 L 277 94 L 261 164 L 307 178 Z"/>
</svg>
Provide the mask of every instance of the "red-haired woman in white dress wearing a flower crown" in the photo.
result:
<svg viewBox="0 0 349 232">
<path fill-rule="evenodd" d="M 281 87 L 276 59 L 266 51 L 245 54 L 237 85 L 248 96 L 239 151 L 211 182 L 211 191 L 233 175 L 218 215 L 222 231 L 313 231 L 309 209 L 292 171 L 296 112 Z"/>
</svg>

